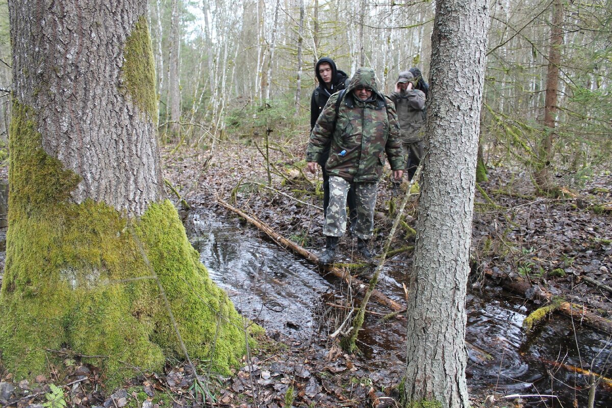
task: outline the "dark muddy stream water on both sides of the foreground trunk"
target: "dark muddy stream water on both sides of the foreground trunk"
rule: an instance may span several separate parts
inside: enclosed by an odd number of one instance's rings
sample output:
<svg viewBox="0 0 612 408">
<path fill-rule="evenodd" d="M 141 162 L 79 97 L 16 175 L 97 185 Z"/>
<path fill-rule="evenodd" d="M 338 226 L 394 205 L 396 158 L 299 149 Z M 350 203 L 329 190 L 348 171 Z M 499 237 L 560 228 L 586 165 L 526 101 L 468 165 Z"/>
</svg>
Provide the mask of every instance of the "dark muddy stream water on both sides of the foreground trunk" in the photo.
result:
<svg viewBox="0 0 612 408">
<path fill-rule="evenodd" d="M 335 283 L 321 278 L 307 262 L 261 239 L 237 218 L 195 212 L 186 228 L 211 278 L 228 291 L 242 313 L 288 335 L 313 335 L 315 305 L 321 295 L 337 291 Z M 403 298 L 404 269 L 405 265 L 392 262 L 379 283 L 395 299 Z M 526 398 L 523 406 L 570 408 L 576 399 L 578 407 L 586 407 L 588 378 L 572 368 L 592 365 L 595 373 L 610 368 L 611 347 L 604 336 L 580 327 L 573 330 L 569 319 L 554 315 L 526 338 L 521 325 L 532 311 L 526 306 L 531 306 L 496 288 L 483 292 L 485 295 L 469 294 L 467 303 L 471 393 L 556 395 L 558 398 Z M 374 362 L 384 352 L 403 360 L 401 324 L 381 327 L 368 319 L 364 329 L 359 346 Z M 515 403 L 510 400 L 505 406 Z M 595 407 L 612 407 L 612 388 L 597 388 Z"/>
</svg>

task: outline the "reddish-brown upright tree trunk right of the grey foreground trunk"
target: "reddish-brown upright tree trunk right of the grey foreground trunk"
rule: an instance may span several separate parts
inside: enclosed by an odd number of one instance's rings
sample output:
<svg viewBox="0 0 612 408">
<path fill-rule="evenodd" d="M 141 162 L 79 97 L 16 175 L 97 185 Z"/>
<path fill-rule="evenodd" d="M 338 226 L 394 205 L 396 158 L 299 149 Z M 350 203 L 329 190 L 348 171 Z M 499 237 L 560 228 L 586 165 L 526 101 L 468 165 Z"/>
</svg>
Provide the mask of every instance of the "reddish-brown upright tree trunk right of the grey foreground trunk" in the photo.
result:
<svg viewBox="0 0 612 408">
<path fill-rule="evenodd" d="M 553 8 L 553 25 L 551 27 L 550 51 L 548 51 L 548 72 L 546 75 L 546 95 L 544 99 L 544 136 L 540 141 L 539 158 L 535 171 L 535 184 L 538 190 L 550 193 L 554 190 L 551 178 L 553 160 L 554 128 L 556 126 L 557 98 L 559 87 L 559 65 L 561 64 L 561 46 L 563 43 L 563 6 L 561 0 L 555 0 Z"/>
</svg>

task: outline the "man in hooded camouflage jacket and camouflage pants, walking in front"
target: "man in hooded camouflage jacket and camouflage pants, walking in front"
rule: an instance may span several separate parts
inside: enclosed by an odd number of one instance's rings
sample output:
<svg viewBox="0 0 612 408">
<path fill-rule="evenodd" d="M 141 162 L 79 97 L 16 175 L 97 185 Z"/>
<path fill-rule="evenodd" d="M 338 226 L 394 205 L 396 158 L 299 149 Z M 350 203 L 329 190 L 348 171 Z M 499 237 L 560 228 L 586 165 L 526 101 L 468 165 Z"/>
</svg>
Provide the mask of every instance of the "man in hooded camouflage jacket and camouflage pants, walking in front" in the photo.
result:
<svg viewBox="0 0 612 408">
<path fill-rule="evenodd" d="M 326 162 L 330 199 L 323 226 L 326 250 L 319 257 L 321 264 L 334 260 L 338 238 L 346 230 L 346 195 L 351 185 L 356 190 L 357 248 L 366 258 L 372 257 L 368 240 L 374 228 L 376 185 L 383 175 L 384 154 L 394 178 L 401 179 L 403 173 L 404 157 L 398 132 L 394 105 L 378 91 L 371 68 L 357 69 L 346 91 L 336 92 L 327 101 L 306 152 L 308 171 L 315 172 L 316 162 L 326 146 L 330 146 Z"/>
</svg>

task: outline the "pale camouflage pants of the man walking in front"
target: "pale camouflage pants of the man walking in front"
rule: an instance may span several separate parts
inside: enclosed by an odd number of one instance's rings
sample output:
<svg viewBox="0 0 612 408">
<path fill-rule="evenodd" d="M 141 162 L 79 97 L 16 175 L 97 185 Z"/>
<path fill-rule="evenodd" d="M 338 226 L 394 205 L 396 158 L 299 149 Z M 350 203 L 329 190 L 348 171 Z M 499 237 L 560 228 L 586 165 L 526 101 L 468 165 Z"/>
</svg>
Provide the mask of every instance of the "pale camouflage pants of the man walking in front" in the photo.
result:
<svg viewBox="0 0 612 408">
<path fill-rule="evenodd" d="M 374 229 L 374 207 L 376 205 L 376 182 L 353 183 L 357 204 L 355 235 L 370 239 Z M 346 231 L 346 195 L 351 183 L 342 177 L 329 177 L 329 206 L 323 225 L 323 235 L 341 237 Z"/>
</svg>

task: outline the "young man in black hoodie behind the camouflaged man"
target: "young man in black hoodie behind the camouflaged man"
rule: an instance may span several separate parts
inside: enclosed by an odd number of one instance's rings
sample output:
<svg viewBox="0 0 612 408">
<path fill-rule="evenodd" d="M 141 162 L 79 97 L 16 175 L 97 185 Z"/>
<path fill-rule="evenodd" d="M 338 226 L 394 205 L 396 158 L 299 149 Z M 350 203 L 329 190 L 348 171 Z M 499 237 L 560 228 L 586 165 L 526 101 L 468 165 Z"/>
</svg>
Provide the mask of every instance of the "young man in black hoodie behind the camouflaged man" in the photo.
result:
<svg viewBox="0 0 612 408">
<path fill-rule="evenodd" d="M 329 57 L 323 57 L 316 62 L 315 75 L 319 82 L 319 86 L 312 92 L 312 99 L 310 100 L 310 132 L 315 127 L 316 119 L 319 114 L 323 111 L 327 100 L 335 92 L 346 89 L 348 86 L 349 78 L 344 71 L 336 68 L 336 64 L 333 59 Z M 327 215 L 327 206 L 329 205 L 329 174 L 325 170 L 325 163 L 329 157 L 329 146 L 319 157 L 319 166 L 323 172 L 323 213 Z M 351 188 L 348 192 L 348 208 L 349 208 L 349 221 L 351 222 L 351 229 L 353 231 L 355 221 L 357 220 L 357 204 L 355 201 L 355 191 Z"/>
</svg>

